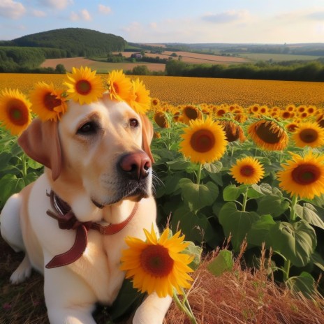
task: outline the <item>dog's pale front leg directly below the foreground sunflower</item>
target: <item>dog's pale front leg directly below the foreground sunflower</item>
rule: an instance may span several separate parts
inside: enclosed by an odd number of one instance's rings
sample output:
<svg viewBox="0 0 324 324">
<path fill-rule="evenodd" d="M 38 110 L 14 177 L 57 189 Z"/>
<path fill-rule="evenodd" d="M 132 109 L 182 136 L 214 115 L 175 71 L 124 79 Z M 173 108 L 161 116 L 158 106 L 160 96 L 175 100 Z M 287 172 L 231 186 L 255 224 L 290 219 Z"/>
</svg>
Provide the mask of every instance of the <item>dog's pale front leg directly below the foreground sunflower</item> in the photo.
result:
<svg viewBox="0 0 324 324">
<path fill-rule="evenodd" d="M 160 298 L 152 293 L 136 310 L 133 324 L 162 324 L 171 302 L 170 296 Z"/>
</svg>

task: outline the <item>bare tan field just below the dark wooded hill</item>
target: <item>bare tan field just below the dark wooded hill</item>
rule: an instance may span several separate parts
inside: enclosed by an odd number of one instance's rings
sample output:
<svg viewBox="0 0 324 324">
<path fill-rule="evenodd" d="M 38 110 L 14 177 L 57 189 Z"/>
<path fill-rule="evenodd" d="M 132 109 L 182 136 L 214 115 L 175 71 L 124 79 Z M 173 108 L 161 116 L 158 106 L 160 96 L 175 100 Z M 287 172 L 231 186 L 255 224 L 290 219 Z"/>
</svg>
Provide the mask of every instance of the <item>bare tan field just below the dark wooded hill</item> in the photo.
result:
<svg viewBox="0 0 324 324">
<path fill-rule="evenodd" d="M 91 70 L 96 70 L 98 73 L 105 73 L 106 71 L 111 70 L 132 70 L 135 66 L 146 65 L 149 68 L 149 71 L 164 71 L 165 64 L 159 63 L 109 63 L 94 61 L 91 59 L 85 59 L 84 57 L 73 57 L 68 59 L 46 59 L 40 67 L 42 68 L 55 68 L 57 64 L 63 64 L 66 68 L 66 71 L 71 71 L 73 66 L 75 68 L 80 68 L 80 66 L 89 66 Z"/>
</svg>

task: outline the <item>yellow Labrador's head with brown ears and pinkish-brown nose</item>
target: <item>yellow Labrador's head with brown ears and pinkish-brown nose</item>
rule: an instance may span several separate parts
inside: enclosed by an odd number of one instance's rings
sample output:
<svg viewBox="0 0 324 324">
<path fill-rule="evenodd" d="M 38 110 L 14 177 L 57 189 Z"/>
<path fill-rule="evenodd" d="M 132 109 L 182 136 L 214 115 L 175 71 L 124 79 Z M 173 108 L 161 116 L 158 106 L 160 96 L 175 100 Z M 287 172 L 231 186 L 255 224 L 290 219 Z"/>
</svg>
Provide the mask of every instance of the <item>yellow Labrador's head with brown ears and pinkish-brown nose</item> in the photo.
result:
<svg viewBox="0 0 324 324">
<path fill-rule="evenodd" d="M 152 135 L 147 117 L 105 95 L 89 105 L 69 101 L 59 122 L 34 119 L 18 142 L 51 170 L 54 187 L 82 188 L 103 207 L 152 194 Z"/>
</svg>

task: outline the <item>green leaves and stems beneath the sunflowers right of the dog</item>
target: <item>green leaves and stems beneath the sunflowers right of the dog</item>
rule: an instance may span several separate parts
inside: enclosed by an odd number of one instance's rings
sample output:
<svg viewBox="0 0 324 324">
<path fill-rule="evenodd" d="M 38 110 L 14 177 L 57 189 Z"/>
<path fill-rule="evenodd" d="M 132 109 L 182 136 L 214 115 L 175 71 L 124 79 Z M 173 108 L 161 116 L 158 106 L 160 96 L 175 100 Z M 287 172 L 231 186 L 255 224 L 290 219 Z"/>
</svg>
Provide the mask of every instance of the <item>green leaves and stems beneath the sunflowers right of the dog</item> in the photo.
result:
<svg viewBox="0 0 324 324">
<path fill-rule="evenodd" d="M 279 161 L 287 159 L 294 147 L 278 154 L 252 150 L 250 140 L 230 143 L 222 159 L 202 165 L 200 173 L 200 165 L 179 152 L 184 125 L 168 120 L 170 128 L 156 126 L 161 138 L 152 144 L 154 170 L 161 180 L 156 184 L 160 223 L 170 218 L 172 228 L 181 228 L 187 240 L 205 244 L 207 251 L 230 237 L 233 253 L 239 253 L 246 242 L 244 256 L 251 266 L 257 265 L 265 244 L 267 251 L 274 253 L 269 269 L 274 277 L 293 291 L 311 293 L 314 277 L 324 269 L 324 251 L 319 244 L 324 199 L 299 201 L 279 189 L 275 176 Z M 244 156 L 256 156 L 263 164 L 265 176 L 260 184 L 237 185 L 228 174 L 230 166 Z M 226 260 L 214 260 L 212 272 L 221 273 L 224 264 Z M 307 271 L 312 279 L 304 276 Z"/>
</svg>

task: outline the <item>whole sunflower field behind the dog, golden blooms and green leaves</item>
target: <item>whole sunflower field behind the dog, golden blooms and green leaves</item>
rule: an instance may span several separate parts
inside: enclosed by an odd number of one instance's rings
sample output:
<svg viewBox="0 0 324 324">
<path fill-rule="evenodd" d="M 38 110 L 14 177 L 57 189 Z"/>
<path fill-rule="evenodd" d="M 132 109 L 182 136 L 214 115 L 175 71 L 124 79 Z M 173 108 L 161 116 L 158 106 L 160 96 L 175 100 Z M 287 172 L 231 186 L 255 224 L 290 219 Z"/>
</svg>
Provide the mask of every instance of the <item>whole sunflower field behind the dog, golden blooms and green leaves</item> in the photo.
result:
<svg viewBox="0 0 324 324">
<path fill-rule="evenodd" d="M 63 78 L 18 76 L 0 75 L 3 94 L 10 95 L 6 87 L 27 93 L 38 79 L 56 85 Z M 244 245 L 244 262 L 251 267 L 258 267 L 264 246 L 268 273 L 277 281 L 305 295 L 323 293 L 323 84 L 142 80 L 152 96 L 146 113 L 154 124 L 161 228 L 170 223 L 206 252 L 230 244 L 240 253 Z M 1 208 L 42 166 L 25 156 L 4 128 L 0 146 Z"/>
</svg>

